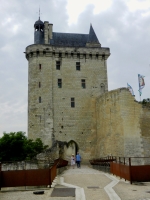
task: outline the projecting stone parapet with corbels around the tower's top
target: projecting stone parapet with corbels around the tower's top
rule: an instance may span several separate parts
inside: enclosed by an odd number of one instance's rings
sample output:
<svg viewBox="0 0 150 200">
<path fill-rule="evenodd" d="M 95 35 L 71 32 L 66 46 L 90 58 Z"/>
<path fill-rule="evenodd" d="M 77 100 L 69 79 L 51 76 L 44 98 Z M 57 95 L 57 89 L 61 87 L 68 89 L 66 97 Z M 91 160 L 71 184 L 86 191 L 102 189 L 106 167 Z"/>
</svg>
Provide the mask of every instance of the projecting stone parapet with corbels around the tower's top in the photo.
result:
<svg viewBox="0 0 150 200">
<path fill-rule="evenodd" d="M 53 47 L 48 45 L 30 45 L 26 48 L 27 60 L 32 57 L 55 57 L 73 59 L 107 60 L 110 56 L 109 48 L 74 48 Z"/>
</svg>

